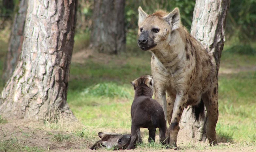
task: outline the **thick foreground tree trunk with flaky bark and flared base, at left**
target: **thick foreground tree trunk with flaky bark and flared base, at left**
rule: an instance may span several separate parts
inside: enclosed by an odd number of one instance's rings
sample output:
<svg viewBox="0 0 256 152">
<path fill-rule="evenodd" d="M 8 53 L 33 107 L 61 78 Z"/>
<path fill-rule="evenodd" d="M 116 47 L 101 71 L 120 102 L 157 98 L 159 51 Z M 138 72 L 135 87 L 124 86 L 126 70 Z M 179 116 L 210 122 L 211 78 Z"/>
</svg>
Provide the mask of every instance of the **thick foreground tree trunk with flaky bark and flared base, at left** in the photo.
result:
<svg viewBox="0 0 256 152">
<path fill-rule="evenodd" d="M 77 0 L 28 1 L 22 53 L 2 92 L 1 115 L 75 120 L 67 89 L 76 7 Z"/>
</svg>

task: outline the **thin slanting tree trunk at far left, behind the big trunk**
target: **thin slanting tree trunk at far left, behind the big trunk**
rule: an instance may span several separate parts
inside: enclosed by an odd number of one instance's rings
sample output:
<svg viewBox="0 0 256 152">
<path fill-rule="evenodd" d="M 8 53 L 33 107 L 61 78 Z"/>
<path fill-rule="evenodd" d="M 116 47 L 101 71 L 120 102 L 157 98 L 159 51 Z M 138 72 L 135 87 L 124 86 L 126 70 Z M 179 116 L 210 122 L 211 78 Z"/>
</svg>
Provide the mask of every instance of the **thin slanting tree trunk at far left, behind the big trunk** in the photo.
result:
<svg viewBox="0 0 256 152">
<path fill-rule="evenodd" d="M 8 52 L 6 55 L 6 61 L 2 76 L 4 84 L 11 77 L 13 71 L 15 70 L 21 54 L 24 39 L 25 19 L 27 14 L 27 2 L 28 0 L 20 1 L 19 12 L 14 17 Z"/>
</svg>

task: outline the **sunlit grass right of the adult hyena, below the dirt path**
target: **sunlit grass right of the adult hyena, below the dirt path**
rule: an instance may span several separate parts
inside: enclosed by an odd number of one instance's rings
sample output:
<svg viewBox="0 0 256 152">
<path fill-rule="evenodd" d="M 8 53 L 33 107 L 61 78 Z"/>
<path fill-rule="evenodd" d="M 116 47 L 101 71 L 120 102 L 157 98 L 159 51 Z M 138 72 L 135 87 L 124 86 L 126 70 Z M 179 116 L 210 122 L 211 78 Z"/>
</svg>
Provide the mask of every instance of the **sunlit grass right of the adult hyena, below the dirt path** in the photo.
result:
<svg viewBox="0 0 256 152">
<path fill-rule="evenodd" d="M 255 72 L 219 76 L 219 120 L 216 131 L 234 141 L 256 136 Z"/>
</svg>

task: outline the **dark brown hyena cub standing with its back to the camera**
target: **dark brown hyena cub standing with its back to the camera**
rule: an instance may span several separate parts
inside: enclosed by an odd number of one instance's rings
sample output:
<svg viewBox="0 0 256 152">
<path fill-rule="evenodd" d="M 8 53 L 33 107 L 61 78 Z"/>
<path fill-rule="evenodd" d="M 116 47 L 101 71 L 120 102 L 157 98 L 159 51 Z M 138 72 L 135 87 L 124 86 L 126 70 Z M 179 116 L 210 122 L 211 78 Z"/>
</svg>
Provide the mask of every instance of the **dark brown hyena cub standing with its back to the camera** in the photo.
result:
<svg viewBox="0 0 256 152">
<path fill-rule="evenodd" d="M 134 86 L 135 97 L 131 108 L 132 137 L 127 149 L 133 149 L 136 142 L 142 142 L 140 128 L 148 128 L 149 142 L 155 141 L 155 131 L 156 128 L 159 128 L 160 142 L 165 144 L 166 121 L 163 108 L 156 100 L 152 99 L 154 86 L 152 76 L 143 75 L 131 82 L 131 84 Z"/>
</svg>

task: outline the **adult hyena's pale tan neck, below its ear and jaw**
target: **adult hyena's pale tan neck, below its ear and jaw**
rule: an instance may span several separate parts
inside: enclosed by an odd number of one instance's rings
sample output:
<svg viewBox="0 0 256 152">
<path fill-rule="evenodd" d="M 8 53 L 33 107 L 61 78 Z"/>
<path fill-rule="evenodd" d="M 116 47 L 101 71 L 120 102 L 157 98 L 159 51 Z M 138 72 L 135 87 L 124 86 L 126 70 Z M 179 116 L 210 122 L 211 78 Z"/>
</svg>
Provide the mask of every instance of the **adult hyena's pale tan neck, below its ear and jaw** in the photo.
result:
<svg viewBox="0 0 256 152">
<path fill-rule="evenodd" d="M 170 33 L 167 43 L 161 49 L 152 50 L 152 53 L 165 67 L 173 67 L 183 59 L 185 42 L 183 29 L 174 30 Z"/>
</svg>

